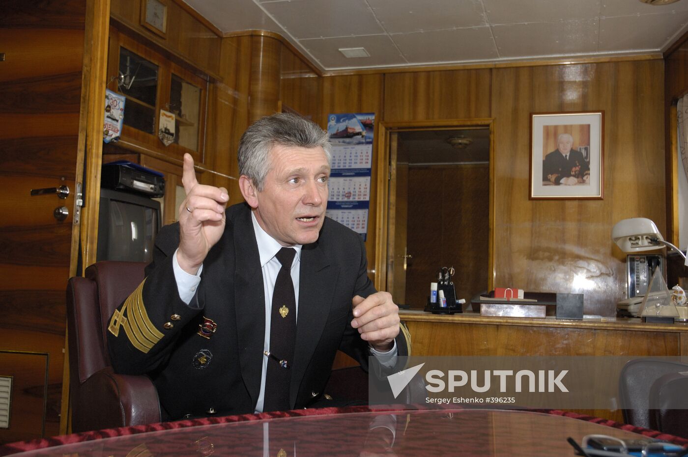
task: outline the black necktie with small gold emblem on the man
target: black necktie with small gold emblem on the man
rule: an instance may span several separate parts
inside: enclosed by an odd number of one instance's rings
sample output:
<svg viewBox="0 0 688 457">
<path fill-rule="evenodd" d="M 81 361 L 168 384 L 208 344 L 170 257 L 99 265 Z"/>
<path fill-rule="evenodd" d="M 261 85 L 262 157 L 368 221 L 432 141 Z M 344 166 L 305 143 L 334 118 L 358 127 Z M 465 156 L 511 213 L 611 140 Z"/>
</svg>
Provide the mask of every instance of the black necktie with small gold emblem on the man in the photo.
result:
<svg viewBox="0 0 688 457">
<path fill-rule="evenodd" d="M 290 409 L 289 383 L 294 358 L 294 339 L 297 335 L 297 302 L 290 269 L 296 250 L 283 247 L 275 255 L 282 267 L 272 291 L 270 311 L 270 355 L 266 374 L 263 411 Z"/>
</svg>

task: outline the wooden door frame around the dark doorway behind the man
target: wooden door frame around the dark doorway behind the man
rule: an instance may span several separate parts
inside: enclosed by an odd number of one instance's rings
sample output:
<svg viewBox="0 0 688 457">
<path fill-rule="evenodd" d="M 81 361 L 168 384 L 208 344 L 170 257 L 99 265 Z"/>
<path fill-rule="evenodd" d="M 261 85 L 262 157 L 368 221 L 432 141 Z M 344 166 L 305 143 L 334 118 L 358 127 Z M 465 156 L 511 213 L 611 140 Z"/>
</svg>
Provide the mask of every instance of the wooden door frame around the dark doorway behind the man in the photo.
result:
<svg viewBox="0 0 688 457">
<path fill-rule="evenodd" d="M 387 290 L 387 243 L 389 241 L 387 221 L 387 208 L 389 206 L 389 145 L 390 133 L 398 131 L 416 130 L 453 130 L 464 126 L 484 126 L 490 131 L 490 210 L 488 236 L 488 288 L 493 289 L 495 281 L 495 120 L 492 118 L 480 119 L 444 119 L 444 120 L 415 120 L 380 122 L 378 124 L 378 148 L 377 167 L 378 178 L 376 182 L 376 227 L 375 236 L 375 287 L 378 290 Z"/>
</svg>

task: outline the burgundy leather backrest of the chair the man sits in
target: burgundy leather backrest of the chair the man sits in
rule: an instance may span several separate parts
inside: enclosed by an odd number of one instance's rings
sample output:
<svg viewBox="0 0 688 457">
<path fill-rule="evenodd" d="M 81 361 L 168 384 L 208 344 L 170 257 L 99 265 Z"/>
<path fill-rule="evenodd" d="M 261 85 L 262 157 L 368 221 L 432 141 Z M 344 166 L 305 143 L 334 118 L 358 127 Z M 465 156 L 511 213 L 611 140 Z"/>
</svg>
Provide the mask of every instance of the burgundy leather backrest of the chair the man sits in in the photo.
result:
<svg viewBox="0 0 688 457">
<path fill-rule="evenodd" d="M 69 377 L 72 390 L 110 366 L 106 331 L 110 315 L 144 279 L 143 262 L 103 261 L 67 285 Z"/>
</svg>

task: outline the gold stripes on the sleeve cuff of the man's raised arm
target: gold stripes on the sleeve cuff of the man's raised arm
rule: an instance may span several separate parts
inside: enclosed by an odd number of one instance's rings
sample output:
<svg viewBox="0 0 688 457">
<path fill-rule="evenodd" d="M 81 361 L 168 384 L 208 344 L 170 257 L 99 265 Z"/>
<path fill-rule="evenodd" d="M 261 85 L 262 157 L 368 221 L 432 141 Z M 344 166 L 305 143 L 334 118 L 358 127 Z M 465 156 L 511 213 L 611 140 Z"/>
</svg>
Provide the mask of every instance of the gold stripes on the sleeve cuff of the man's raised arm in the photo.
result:
<svg viewBox="0 0 688 457">
<path fill-rule="evenodd" d="M 153 326 L 143 304 L 143 285 L 145 282 L 146 280 L 143 280 L 131 293 L 119 311 L 115 310 L 107 330 L 119 337 L 121 326 L 124 328 L 131 345 L 147 354 L 164 335 Z"/>
</svg>

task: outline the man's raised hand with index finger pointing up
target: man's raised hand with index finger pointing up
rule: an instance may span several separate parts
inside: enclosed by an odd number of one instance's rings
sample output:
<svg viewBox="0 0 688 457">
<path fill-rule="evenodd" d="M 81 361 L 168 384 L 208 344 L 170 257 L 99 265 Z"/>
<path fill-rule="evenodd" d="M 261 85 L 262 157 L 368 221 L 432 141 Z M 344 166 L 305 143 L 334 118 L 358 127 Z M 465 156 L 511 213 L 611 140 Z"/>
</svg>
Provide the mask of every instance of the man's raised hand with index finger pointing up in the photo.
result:
<svg viewBox="0 0 688 457">
<path fill-rule="evenodd" d="M 224 232 L 224 210 L 229 194 L 225 188 L 199 184 L 189 154 L 184 154 L 182 184 L 186 199 L 179 207 L 177 261 L 184 271 L 196 274 L 208 251 Z"/>
</svg>

